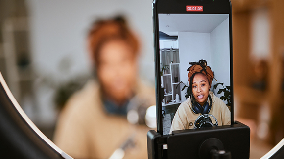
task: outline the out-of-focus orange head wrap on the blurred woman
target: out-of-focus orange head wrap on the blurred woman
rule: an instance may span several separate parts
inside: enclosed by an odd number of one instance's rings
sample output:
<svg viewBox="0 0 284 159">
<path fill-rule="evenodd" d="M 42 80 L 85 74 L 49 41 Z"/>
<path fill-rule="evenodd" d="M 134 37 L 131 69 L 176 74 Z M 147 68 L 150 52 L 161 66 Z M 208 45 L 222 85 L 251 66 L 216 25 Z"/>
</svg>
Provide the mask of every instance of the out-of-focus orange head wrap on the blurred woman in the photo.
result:
<svg viewBox="0 0 284 159">
<path fill-rule="evenodd" d="M 139 52 L 139 40 L 128 28 L 126 20 L 118 16 L 108 20 L 97 20 L 92 25 L 88 35 L 88 47 L 91 59 L 98 65 L 101 46 L 110 40 L 123 40 L 133 50 L 133 55 Z"/>
</svg>

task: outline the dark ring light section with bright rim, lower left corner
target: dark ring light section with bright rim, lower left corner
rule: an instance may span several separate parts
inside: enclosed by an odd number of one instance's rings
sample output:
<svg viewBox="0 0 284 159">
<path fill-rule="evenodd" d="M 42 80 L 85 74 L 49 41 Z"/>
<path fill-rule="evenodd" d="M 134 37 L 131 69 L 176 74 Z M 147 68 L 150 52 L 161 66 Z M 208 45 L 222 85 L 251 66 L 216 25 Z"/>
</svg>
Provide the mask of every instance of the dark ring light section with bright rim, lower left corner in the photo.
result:
<svg viewBox="0 0 284 159">
<path fill-rule="evenodd" d="M 2 159 L 72 159 L 51 142 L 27 117 L 8 88 L 1 72 Z"/>
</svg>

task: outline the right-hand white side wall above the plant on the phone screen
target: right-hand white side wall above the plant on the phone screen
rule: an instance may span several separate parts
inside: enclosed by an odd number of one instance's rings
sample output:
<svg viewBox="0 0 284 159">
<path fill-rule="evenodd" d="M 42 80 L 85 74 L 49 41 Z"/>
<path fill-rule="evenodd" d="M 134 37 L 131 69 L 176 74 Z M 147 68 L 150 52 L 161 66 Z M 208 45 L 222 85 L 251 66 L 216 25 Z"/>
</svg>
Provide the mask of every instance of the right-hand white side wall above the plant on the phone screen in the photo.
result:
<svg viewBox="0 0 284 159">
<path fill-rule="evenodd" d="M 215 79 L 212 81 L 212 88 L 216 83 L 224 83 L 230 86 L 230 39 L 229 39 L 229 18 L 224 20 L 210 33 L 211 42 L 211 68 L 214 71 Z M 219 85 L 214 92 L 217 97 L 218 90 L 223 87 Z"/>
</svg>

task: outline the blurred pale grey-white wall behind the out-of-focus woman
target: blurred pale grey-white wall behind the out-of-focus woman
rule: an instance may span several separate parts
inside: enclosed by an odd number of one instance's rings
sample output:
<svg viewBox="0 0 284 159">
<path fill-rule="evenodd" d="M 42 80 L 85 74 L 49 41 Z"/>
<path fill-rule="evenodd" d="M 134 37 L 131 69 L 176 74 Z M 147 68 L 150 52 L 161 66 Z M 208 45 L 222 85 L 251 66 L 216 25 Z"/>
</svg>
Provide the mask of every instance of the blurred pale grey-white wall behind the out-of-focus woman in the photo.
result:
<svg viewBox="0 0 284 159">
<path fill-rule="evenodd" d="M 28 0 L 32 60 L 39 74 L 68 80 L 90 71 L 86 50 L 88 28 L 98 17 L 126 15 L 142 42 L 142 77 L 154 82 L 152 0 Z M 70 72 L 58 69 L 71 60 Z"/>
</svg>

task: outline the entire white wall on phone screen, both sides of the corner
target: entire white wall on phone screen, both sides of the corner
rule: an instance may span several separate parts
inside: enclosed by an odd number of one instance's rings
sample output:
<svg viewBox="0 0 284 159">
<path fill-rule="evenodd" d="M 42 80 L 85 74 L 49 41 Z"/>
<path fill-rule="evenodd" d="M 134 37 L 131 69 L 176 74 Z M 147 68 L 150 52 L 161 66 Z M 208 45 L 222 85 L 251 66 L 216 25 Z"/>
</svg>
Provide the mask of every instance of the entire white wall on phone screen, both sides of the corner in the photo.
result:
<svg viewBox="0 0 284 159">
<path fill-rule="evenodd" d="M 229 18 L 218 25 L 211 33 L 179 32 L 179 53 L 180 53 L 180 76 L 181 81 L 188 84 L 189 62 L 197 62 L 201 59 L 207 61 L 215 74 L 211 90 L 217 95 L 220 88 L 213 90 L 214 84 L 224 82 L 230 86 L 230 41 L 229 41 Z M 186 100 L 186 91 L 182 91 L 182 101 Z"/>
</svg>

